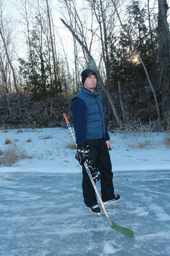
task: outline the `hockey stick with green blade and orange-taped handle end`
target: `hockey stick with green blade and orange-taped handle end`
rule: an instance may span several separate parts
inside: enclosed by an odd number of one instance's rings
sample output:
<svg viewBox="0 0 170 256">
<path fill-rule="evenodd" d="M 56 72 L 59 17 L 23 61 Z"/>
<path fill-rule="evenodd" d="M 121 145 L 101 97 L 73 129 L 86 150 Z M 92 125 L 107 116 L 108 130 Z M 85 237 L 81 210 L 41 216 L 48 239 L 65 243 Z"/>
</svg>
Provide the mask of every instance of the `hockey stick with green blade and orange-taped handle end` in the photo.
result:
<svg viewBox="0 0 170 256">
<path fill-rule="evenodd" d="M 68 118 L 67 118 L 66 113 L 63 113 L 63 117 L 64 117 L 64 119 L 66 120 L 67 126 L 68 126 L 68 128 L 69 128 L 69 130 L 70 130 L 70 133 L 71 133 L 71 135 L 72 135 L 72 138 L 73 138 L 73 140 L 74 140 L 74 143 L 75 143 L 75 145 L 77 146 L 77 144 L 76 144 L 76 142 L 75 142 L 75 135 L 74 135 L 74 132 L 73 132 L 73 130 L 72 130 L 72 127 L 70 126 L 70 123 L 69 123 L 69 121 L 68 121 Z M 101 206 L 102 206 L 102 208 L 103 208 L 103 212 L 105 213 L 106 218 L 107 218 L 108 223 L 109 223 L 109 225 L 111 226 L 111 228 L 114 229 L 115 231 L 118 231 L 119 233 L 121 233 L 121 234 L 123 234 L 123 235 L 129 236 L 130 238 L 132 238 L 132 237 L 134 236 L 134 232 L 133 232 L 132 230 L 126 229 L 126 228 L 124 228 L 124 227 L 122 227 L 122 226 L 119 226 L 118 224 L 115 224 L 115 223 L 109 218 L 109 215 L 108 215 L 108 213 L 107 213 L 107 210 L 106 210 L 106 208 L 105 208 L 105 206 L 104 206 L 104 204 L 103 204 L 102 198 L 101 198 L 101 196 L 100 196 L 100 194 L 99 194 L 99 192 L 98 192 L 98 190 L 97 190 L 96 184 L 95 184 L 95 182 L 94 182 L 94 180 L 93 180 L 93 178 L 92 178 L 92 176 L 91 176 L 91 173 L 90 173 L 90 171 L 89 171 L 89 167 L 88 167 L 88 165 L 87 165 L 86 162 L 84 163 L 84 166 L 85 166 L 85 168 L 86 168 L 87 174 L 89 175 L 89 178 L 90 178 L 90 180 L 91 180 L 91 183 L 92 183 L 92 185 L 93 185 L 93 187 L 94 187 L 94 190 L 95 190 L 95 192 L 96 192 L 96 194 L 97 194 L 97 196 L 98 196 L 98 199 L 99 199 L 99 201 L 100 201 L 100 203 L 101 203 Z"/>
</svg>

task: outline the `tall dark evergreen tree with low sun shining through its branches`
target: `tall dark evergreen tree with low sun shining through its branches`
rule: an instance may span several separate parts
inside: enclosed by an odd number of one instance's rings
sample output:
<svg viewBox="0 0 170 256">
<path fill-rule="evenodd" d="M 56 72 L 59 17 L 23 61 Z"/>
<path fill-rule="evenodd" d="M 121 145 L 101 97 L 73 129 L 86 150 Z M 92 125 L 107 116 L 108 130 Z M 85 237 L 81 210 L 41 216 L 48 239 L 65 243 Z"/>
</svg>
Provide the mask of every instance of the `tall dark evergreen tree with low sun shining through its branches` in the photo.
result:
<svg viewBox="0 0 170 256">
<path fill-rule="evenodd" d="M 135 46 L 147 66 L 148 73 L 153 73 L 155 64 L 152 57 L 149 30 L 146 25 L 146 6 L 141 7 L 141 2 L 134 0 L 127 6 L 126 14 L 124 27 L 130 31 Z M 114 84 L 114 87 L 118 89 L 117 85 L 120 81 L 123 87 L 129 91 L 134 104 L 136 104 L 139 90 L 142 88 L 144 90 L 143 104 L 145 105 L 145 85 L 148 84 L 146 74 L 127 34 L 121 30 L 118 37 L 112 38 L 110 35 L 109 39 L 111 84 Z"/>
</svg>

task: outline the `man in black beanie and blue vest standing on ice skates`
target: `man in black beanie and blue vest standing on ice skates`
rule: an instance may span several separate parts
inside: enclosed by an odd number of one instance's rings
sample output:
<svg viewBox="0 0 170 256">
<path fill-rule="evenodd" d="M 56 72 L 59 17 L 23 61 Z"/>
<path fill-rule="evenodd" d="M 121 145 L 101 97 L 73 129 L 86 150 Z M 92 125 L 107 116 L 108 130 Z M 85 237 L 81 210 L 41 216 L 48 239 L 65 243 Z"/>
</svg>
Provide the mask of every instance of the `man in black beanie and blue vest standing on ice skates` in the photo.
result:
<svg viewBox="0 0 170 256">
<path fill-rule="evenodd" d="M 82 73 L 83 89 L 72 99 L 71 110 L 77 143 L 75 158 L 83 166 L 83 197 L 92 212 L 100 213 L 94 187 L 84 167 L 88 162 L 94 181 L 101 180 L 101 196 L 105 204 L 119 201 L 120 196 L 114 194 L 113 173 L 110 155 L 110 137 L 104 117 L 104 106 L 100 95 L 95 90 L 96 72 L 85 69 Z"/>
</svg>

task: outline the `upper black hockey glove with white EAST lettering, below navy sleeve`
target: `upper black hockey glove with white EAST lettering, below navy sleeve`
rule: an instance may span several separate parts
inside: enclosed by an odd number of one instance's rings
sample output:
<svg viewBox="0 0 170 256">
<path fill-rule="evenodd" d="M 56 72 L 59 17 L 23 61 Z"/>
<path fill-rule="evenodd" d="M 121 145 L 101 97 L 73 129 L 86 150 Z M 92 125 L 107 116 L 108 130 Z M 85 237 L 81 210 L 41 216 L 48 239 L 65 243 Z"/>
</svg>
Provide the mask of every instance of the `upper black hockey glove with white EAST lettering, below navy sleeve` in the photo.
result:
<svg viewBox="0 0 170 256">
<path fill-rule="evenodd" d="M 84 162 L 89 157 L 89 146 L 77 144 L 77 152 L 75 153 L 75 159 L 79 162 L 80 165 L 83 165 Z"/>
</svg>

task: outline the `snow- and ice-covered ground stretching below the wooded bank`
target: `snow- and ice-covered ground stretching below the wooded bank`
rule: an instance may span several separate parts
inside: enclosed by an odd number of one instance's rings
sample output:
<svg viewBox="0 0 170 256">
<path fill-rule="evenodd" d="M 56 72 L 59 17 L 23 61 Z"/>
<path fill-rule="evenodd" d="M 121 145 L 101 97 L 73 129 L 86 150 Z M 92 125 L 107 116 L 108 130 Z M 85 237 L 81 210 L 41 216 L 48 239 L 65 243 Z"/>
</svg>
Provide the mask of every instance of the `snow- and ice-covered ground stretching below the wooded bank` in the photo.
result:
<svg viewBox="0 0 170 256">
<path fill-rule="evenodd" d="M 68 129 L 1 130 L 1 151 L 10 139 L 13 148 L 31 157 L 0 166 L 1 256 L 170 255 L 165 135 L 110 135 L 113 181 L 121 201 L 107 210 L 115 223 L 134 231 L 134 238 L 112 230 L 103 211 L 98 217 L 85 206 L 81 167 L 75 149 L 67 147 L 72 143 Z M 100 182 L 97 187 L 100 191 Z"/>
</svg>

